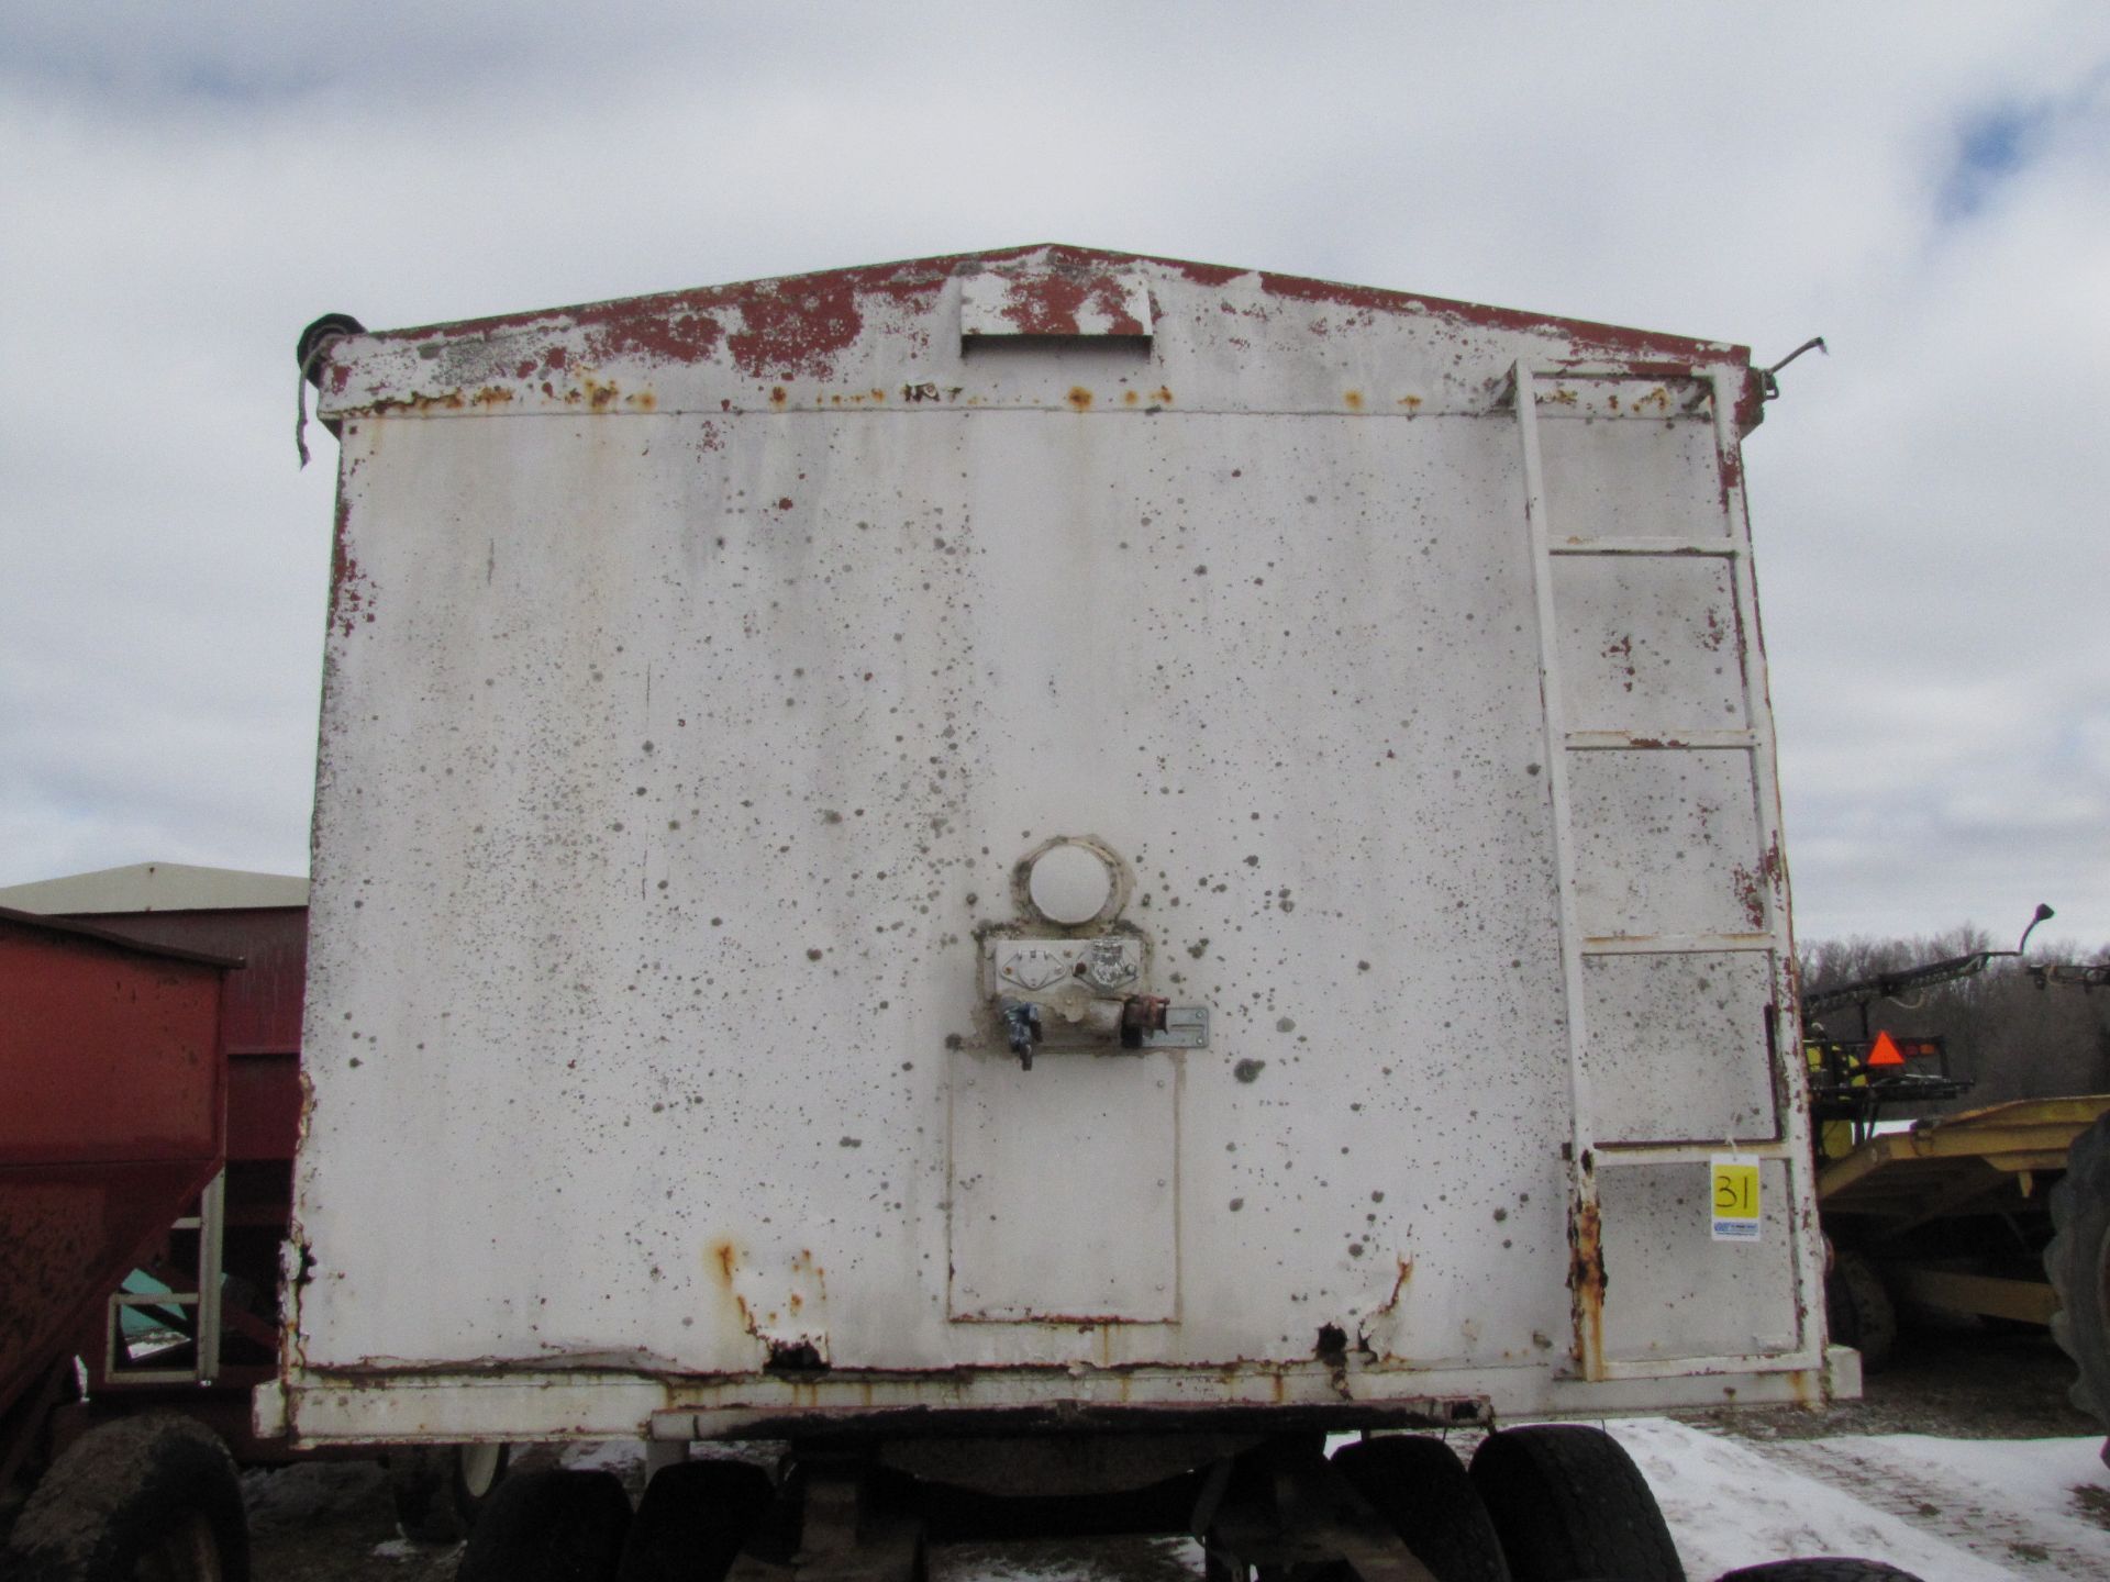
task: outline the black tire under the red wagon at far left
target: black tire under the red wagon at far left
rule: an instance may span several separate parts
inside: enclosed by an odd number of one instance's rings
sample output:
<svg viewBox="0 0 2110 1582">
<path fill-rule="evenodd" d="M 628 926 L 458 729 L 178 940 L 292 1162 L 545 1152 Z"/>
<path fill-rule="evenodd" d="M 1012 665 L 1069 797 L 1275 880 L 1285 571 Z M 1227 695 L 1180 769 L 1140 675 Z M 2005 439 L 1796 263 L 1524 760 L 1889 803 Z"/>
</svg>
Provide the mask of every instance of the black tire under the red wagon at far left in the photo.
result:
<svg viewBox="0 0 2110 1582">
<path fill-rule="evenodd" d="M 249 1582 L 249 1521 L 234 1458 L 167 1411 L 91 1428 L 15 1519 L 8 1582 L 129 1582 L 158 1555 L 184 1582 Z"/>
</svg>

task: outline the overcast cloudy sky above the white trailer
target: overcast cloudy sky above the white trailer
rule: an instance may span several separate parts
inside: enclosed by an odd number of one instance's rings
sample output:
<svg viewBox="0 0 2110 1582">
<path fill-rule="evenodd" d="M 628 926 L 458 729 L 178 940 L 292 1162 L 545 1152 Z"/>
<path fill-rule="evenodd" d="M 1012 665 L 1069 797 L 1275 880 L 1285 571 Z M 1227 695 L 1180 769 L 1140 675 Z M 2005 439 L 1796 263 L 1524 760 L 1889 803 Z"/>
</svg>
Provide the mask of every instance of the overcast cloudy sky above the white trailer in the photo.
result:
<svg viewBox="0 0 2110 1582">
<path fill-rule="evenodd" d="M 2110 4 L 0 8 L 0 884 L 306 871 L 293 337 L 1066 240 L 1749 344 L 1798 932 L 2110 943 Z"/>
</svg>

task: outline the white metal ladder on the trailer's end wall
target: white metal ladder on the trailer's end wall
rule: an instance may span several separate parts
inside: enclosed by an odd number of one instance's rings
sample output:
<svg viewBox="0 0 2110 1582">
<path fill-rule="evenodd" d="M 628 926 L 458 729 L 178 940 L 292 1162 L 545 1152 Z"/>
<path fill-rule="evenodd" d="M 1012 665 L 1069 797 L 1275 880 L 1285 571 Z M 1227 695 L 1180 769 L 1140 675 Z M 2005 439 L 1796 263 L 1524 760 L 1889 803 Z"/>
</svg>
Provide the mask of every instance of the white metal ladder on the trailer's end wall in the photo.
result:
<svg viewBox="0 0 2110 1582">
<path fill-rule="evenodd" d="M 1517 363 L 1511 375 L 1509 405 L 1521 441 L 1523 513 L 1536 582 L 1568 1006 L 1574 1358 L 1578 1375 L 1591 1382 L 1688 1375 L 1713 1367 L 1823 1367 L 1821 1245 L 1815 1221 L 1804 1223 L 1791 1213 L 1810 1192 L 1810 1154 L 1800 1103 L 1802 1074 L 1794 1059 L 1791 943 L 1743 504 L 1739 394 L 1741 378 L 1730 367 L 1637 373 Z M 1635 470 L 1597 468 L 1593 451 L 1610 462 L 1633 445 L 1661 445 L 1665 460 L 1684 458 L 1682 498 L 1675 489 L 1661 498 L 1604 498 Z M 1658 483 L 1677 477 L 1675 468 L 1644 475 Z M 1593 483 L 1599 496 L 1591 494 Z M 1564 504 L 1572 506 L 1568 521 Z M 1709 610 L 1709 624 L 1686 633 L 1694 639 L 1686 643 L 1688 652 L 1663 641 L 1663 626 L 1652 639 L 1633 631 L 1620 635 L 1616 622 L 1608 624 L 1616 612 L 1648 616 L 1694 607 L 1692 578 L 1705 578 L 1726 595 L 1728 618 L 1718 620 L 1713 603 L 1699 605 Z M 1644 645 L 1639 656 L 1637 641 Z M 1652 641 L 1661 652 L 1650 648 Z M 1722 662 L 1724 656 L 1732 667 Z M 1720 694 L 1707 698 L 1707 707 L 1724 713 L 1720 719 L 1699 717 L 1696 664 L 1722 675 L 1715 681 Z M 1585 669 L 1589 675 L 1582 675 Z M 1661 812 L 1680 802 L 1675 778 L 1694 774 L 1728 791 L 1718 810 L 1720 825 L 1701 829 L 1699 846 L 1707 848 L 1701 852 L 1701 880 L 1711 880 L 1711 886 L 1696 884 L 1688 873 L 1654 873 L 1646 856 L 1627 871 L 1614 871 L 1618 842 L 1601 825 L 1620 818 L 1646 823 L 1650 789 L 1661 795 Z M 1623 831 L 1629 846 L 1663 854 L 1663 842 L 1654 840 L 1661 831 L 1642 831 L 1633 840 L 1635 833 L 1629 823 Z M 1680 850 L 1665 867 L 1675 869 L 1686 854 Z M 1762 964 L 1770 1088 L 1764 1120 L 1770 1124 L 1724 1126 L 1711 1135 L 1658 1126 L 1658 1135 L 1650 1137 L 1599 1137 L 1593 1091 L 1616 1061 L 1606 1029 L 1612 1019 L 1601 1017 L 1601 1025 L 1593 1027 L 1593 998 L 1604 998 L 1606 981 L 1616 975 L 1633 979 L 1658 968 L 1671 977 L 1684 970 L 1705 985 L 1699 977 L 1705 966 L 1694 966 L 1705 962 L 1726 962 L 1745 981 L 1758 975 L 1739 964 Z M 1747 1025 L 1745 1036 L 1756 1040 L 1760 1027 Z M 1751 1059 L 1749 1050 L 1741 1059 Z M 1625 1050 L 1629 1069 L 1618 1080 L 1627 1088 L 1635 1080 L 1631 1067 L 1642 1063 L 1642 1050 Z M 1606 1105 L 1604 1114 L 1627 1107 Z M 1680 1183 L 1677 1192 L 1690 1188 L 1699 1196 L 1705 1215 L 1713 1209 L 1709 1162 L 1724 1154 L 1758 1160 L 1762 1198 L 1770 1196 L 1766 1234 L 1789 1240 L 1791 1342 L 1779 1348 L 1745 1346 L 1730 1354 L 1618 1354 L 1618 1335 L 1606 1333 L 1606 1236 L 1616 1230 L 1604 1217 L 1606 1181 L 1631 1171 L 1667 1171 Z M 1625 1194 L 1614 1188 L 1614 1196 Z M 1688 1226 L 1703 1223 L 1701 1215 Z M 1751 1230 L 1758 1234 L 1760 1226 Z M 1675 1232 L 1675 1226 L 1652 1226 L 1652 1232 Z M 1734 1257 L 1741 1249 L 1718 1251 Z M 1705 1270 L 1701 1274 L 1705 1278 Z M 1667 1293 L 1652 1295 L 1665 1299 Z M 1783 1293 L 1770 1297 L 1779 1301 Z"/>
</svg>

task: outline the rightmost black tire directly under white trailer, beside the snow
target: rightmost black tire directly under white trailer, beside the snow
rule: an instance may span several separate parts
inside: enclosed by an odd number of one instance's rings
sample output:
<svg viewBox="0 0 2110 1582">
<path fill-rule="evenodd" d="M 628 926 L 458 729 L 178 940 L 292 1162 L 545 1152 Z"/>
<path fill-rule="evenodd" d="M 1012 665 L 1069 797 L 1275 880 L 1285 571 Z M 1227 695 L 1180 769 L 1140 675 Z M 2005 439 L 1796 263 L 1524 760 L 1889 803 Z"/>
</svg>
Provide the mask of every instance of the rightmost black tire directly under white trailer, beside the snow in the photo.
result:
<svg viewBox="0 0 2110 1582">
<path fill-rule="evenodd" d="M 1488 1434 L 1473 1453 L 1473 1487 L 1515 1582 L 1686 1582 L 1648 1479 L 1599 1428 L 1532 1424 Z"/>
</svg>

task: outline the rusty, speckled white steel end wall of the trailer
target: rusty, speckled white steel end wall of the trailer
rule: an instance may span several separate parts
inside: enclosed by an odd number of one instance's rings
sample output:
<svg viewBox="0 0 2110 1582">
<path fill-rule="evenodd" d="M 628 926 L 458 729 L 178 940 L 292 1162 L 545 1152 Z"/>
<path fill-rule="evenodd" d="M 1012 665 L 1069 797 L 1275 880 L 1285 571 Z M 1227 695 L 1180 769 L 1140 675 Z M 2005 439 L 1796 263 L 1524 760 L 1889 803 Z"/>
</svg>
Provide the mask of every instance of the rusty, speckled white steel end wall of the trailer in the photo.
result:
<svg viewBox="0 0 2110 1582">
<path fill-rule="evenodd" d="M 1823 1388 L 1741 348 L 1028 249 L 325 375 L 302 1439 Z"/>
</svg>

